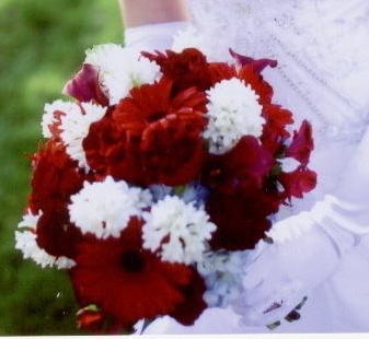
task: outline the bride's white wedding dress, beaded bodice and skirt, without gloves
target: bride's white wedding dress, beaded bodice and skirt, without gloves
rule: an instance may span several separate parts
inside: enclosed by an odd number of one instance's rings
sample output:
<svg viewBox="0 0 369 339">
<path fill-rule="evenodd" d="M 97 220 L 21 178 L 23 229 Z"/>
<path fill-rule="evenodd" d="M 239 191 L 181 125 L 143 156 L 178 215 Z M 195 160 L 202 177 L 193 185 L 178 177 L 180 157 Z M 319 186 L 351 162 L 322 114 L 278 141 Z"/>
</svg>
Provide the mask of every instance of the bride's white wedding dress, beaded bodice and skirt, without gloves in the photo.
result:
<svg viewBox="0 0 369 339">
<path fill-rule="evenodd" d="M 274 100 L 293 112 L 296 126 L 305 118 L 312 124 L 315 150 L 310 167 L 319 183 L 277 218 L 309 211 L 341 184 L 369 124 L 369 1 L 187 2 L 196 42 L 210 59 L 231 60 L 231 47 L 241 55 L 278 60 L 276 69 L 265 69 L 263 74 L 275 89 Z M 309 293 L 301 318 L 282 322 L 274 332 L 369 331 L 369 236 L 365 233 L 334 274 Z M 230 308 L 212 308 L 192 327 L 163 317 L 146 332 L 270 332 L 265 326 L 242 326 L 239 319 Z"/>
</svg>

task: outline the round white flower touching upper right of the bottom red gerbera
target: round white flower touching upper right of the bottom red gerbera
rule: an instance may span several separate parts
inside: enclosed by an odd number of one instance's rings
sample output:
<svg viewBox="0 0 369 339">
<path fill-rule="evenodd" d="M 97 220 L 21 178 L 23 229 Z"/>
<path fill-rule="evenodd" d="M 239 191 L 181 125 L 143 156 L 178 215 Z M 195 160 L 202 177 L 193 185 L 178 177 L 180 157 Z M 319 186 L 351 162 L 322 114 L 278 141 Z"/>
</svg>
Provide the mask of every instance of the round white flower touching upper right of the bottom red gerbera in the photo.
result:
<svg viewBox="0 0 369 339">
<path fill-rule="evenodd" d="M 161 258 L 170 262 L 188 265 L 201 260 L 206 241 L 216 230 L 204 209 L 185 203 L 176 196 L 166 196 L 153 204 L 151 212 L 143 213 L 143 247 L 159 250 Z"/>
</svg>

